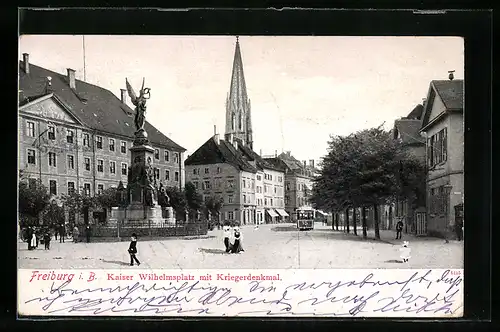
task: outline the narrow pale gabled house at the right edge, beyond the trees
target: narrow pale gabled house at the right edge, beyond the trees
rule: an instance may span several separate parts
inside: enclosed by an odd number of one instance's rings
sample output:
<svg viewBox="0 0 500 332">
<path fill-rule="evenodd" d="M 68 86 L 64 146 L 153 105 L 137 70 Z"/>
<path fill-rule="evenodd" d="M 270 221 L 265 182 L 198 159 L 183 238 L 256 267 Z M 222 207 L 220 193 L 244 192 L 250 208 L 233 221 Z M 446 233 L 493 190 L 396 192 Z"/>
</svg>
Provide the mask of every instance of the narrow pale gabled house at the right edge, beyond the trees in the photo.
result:
<svg viewBox="0 0 500 332">
<path fill-rule="evenodd" d="M 427 142 L 427 232 L 455 235 L 463 221 L 464 82 L 432 81 L 424 103 L 422 128 Z"/>
</svg>

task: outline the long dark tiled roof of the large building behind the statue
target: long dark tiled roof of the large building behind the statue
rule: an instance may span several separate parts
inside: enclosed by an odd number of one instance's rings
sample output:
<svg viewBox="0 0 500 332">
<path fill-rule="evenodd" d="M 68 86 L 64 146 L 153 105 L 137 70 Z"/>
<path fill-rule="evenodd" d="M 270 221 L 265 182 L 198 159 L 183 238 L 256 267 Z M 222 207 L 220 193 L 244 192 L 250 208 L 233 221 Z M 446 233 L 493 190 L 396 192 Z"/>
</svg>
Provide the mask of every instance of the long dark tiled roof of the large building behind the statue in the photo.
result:
<svg viewBox="0 0 500 332">
<path fill-rule="evenodd" d="M 30 73 L 23 70 L 19 63 L 19 89 L 22 96 L 33 101 L 45 94 L 47 76 L 52 77 L 51 91 L 64 101 L 70 112 L 85 126 L 110 134 L 134 137 L 134 113 L 129 106 L 123 104 L 111 91 L 76 80 L 76 89 L 72 90 L 67 76 L 30 64 Z M 20 100 L 20 106 L 26 103 Z M 152 124 L 146 122 L 144 129 L 153 144 L 161 145 L 173 151 L 184 152 L 186 149 L 162 134 Z"/>
</svg>

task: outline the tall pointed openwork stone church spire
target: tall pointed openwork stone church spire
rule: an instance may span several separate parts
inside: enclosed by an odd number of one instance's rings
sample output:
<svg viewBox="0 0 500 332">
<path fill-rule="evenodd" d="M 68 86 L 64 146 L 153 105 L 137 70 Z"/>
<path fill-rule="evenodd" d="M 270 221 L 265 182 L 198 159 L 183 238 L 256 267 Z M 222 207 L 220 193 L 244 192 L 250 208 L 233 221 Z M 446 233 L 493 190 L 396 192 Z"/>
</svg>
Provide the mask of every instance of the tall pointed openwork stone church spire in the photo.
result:
<svg viewBox="0 0 500 332">
<path fill-rule="evenodd" d="M 243 61 L 241 60 L 240 42 L 236 37 L 234 50 L 233 73 L 231 87 L 226 98 L 226 139 L 229 134 L 242 144 L 253 149 L 252 118 L 250 115 L 250 99 L 247 95 Z"/>
</svg>

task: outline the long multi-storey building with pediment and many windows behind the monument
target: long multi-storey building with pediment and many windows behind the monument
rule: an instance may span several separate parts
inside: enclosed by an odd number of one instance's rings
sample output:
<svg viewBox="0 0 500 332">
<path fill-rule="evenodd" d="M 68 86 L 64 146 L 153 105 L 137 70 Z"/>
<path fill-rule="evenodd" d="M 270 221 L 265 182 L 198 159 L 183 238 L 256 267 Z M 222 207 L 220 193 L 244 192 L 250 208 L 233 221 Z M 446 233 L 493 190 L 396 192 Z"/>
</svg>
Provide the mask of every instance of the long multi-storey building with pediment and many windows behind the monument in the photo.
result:
<svg viewBox="0 0 500 332">
<path fill-rule="evenodd" d="M 19 168 L 41 179 L 52 195 L 77 190 L 94 195 L 127 184 L 134 137 L 134 110 L 111 91 L 75 79 L 75 71 L 59 74 L 19 63 Z M 184 185 L 185 149 L 146 122 L 155 149 L 156 177 L 166 186 Z"/>
</svg>

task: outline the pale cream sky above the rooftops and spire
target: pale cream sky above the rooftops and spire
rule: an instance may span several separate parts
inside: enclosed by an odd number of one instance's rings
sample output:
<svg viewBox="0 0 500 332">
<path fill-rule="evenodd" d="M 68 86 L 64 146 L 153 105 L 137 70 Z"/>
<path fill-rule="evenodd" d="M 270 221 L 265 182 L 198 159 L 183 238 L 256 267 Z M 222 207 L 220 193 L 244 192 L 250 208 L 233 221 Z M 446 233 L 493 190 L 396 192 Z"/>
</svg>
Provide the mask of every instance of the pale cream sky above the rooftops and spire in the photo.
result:
<svg viewBox="0 0 500 332">
<path fill-rule="evenodd" d="M 83 51 L 85 40 L 85 52 Z M 319 161 L 330 135 L 406 116 L 431 80 L 464 77 L 459 37 L 240 36 L 254 150 Z M 24 35 L 30 63 L 106 88 L 151 88 L 146 119 L 192 154 L 224 134 L 235 36 Z M 84 57 L 85 53 L 85 57 Z M 85 58 L 85 61 L 84 61 Z M 85 63 L 85 66 L 84 66 Z M 129 103 L 131 107 L 131 105 Z"/>
</svg>

